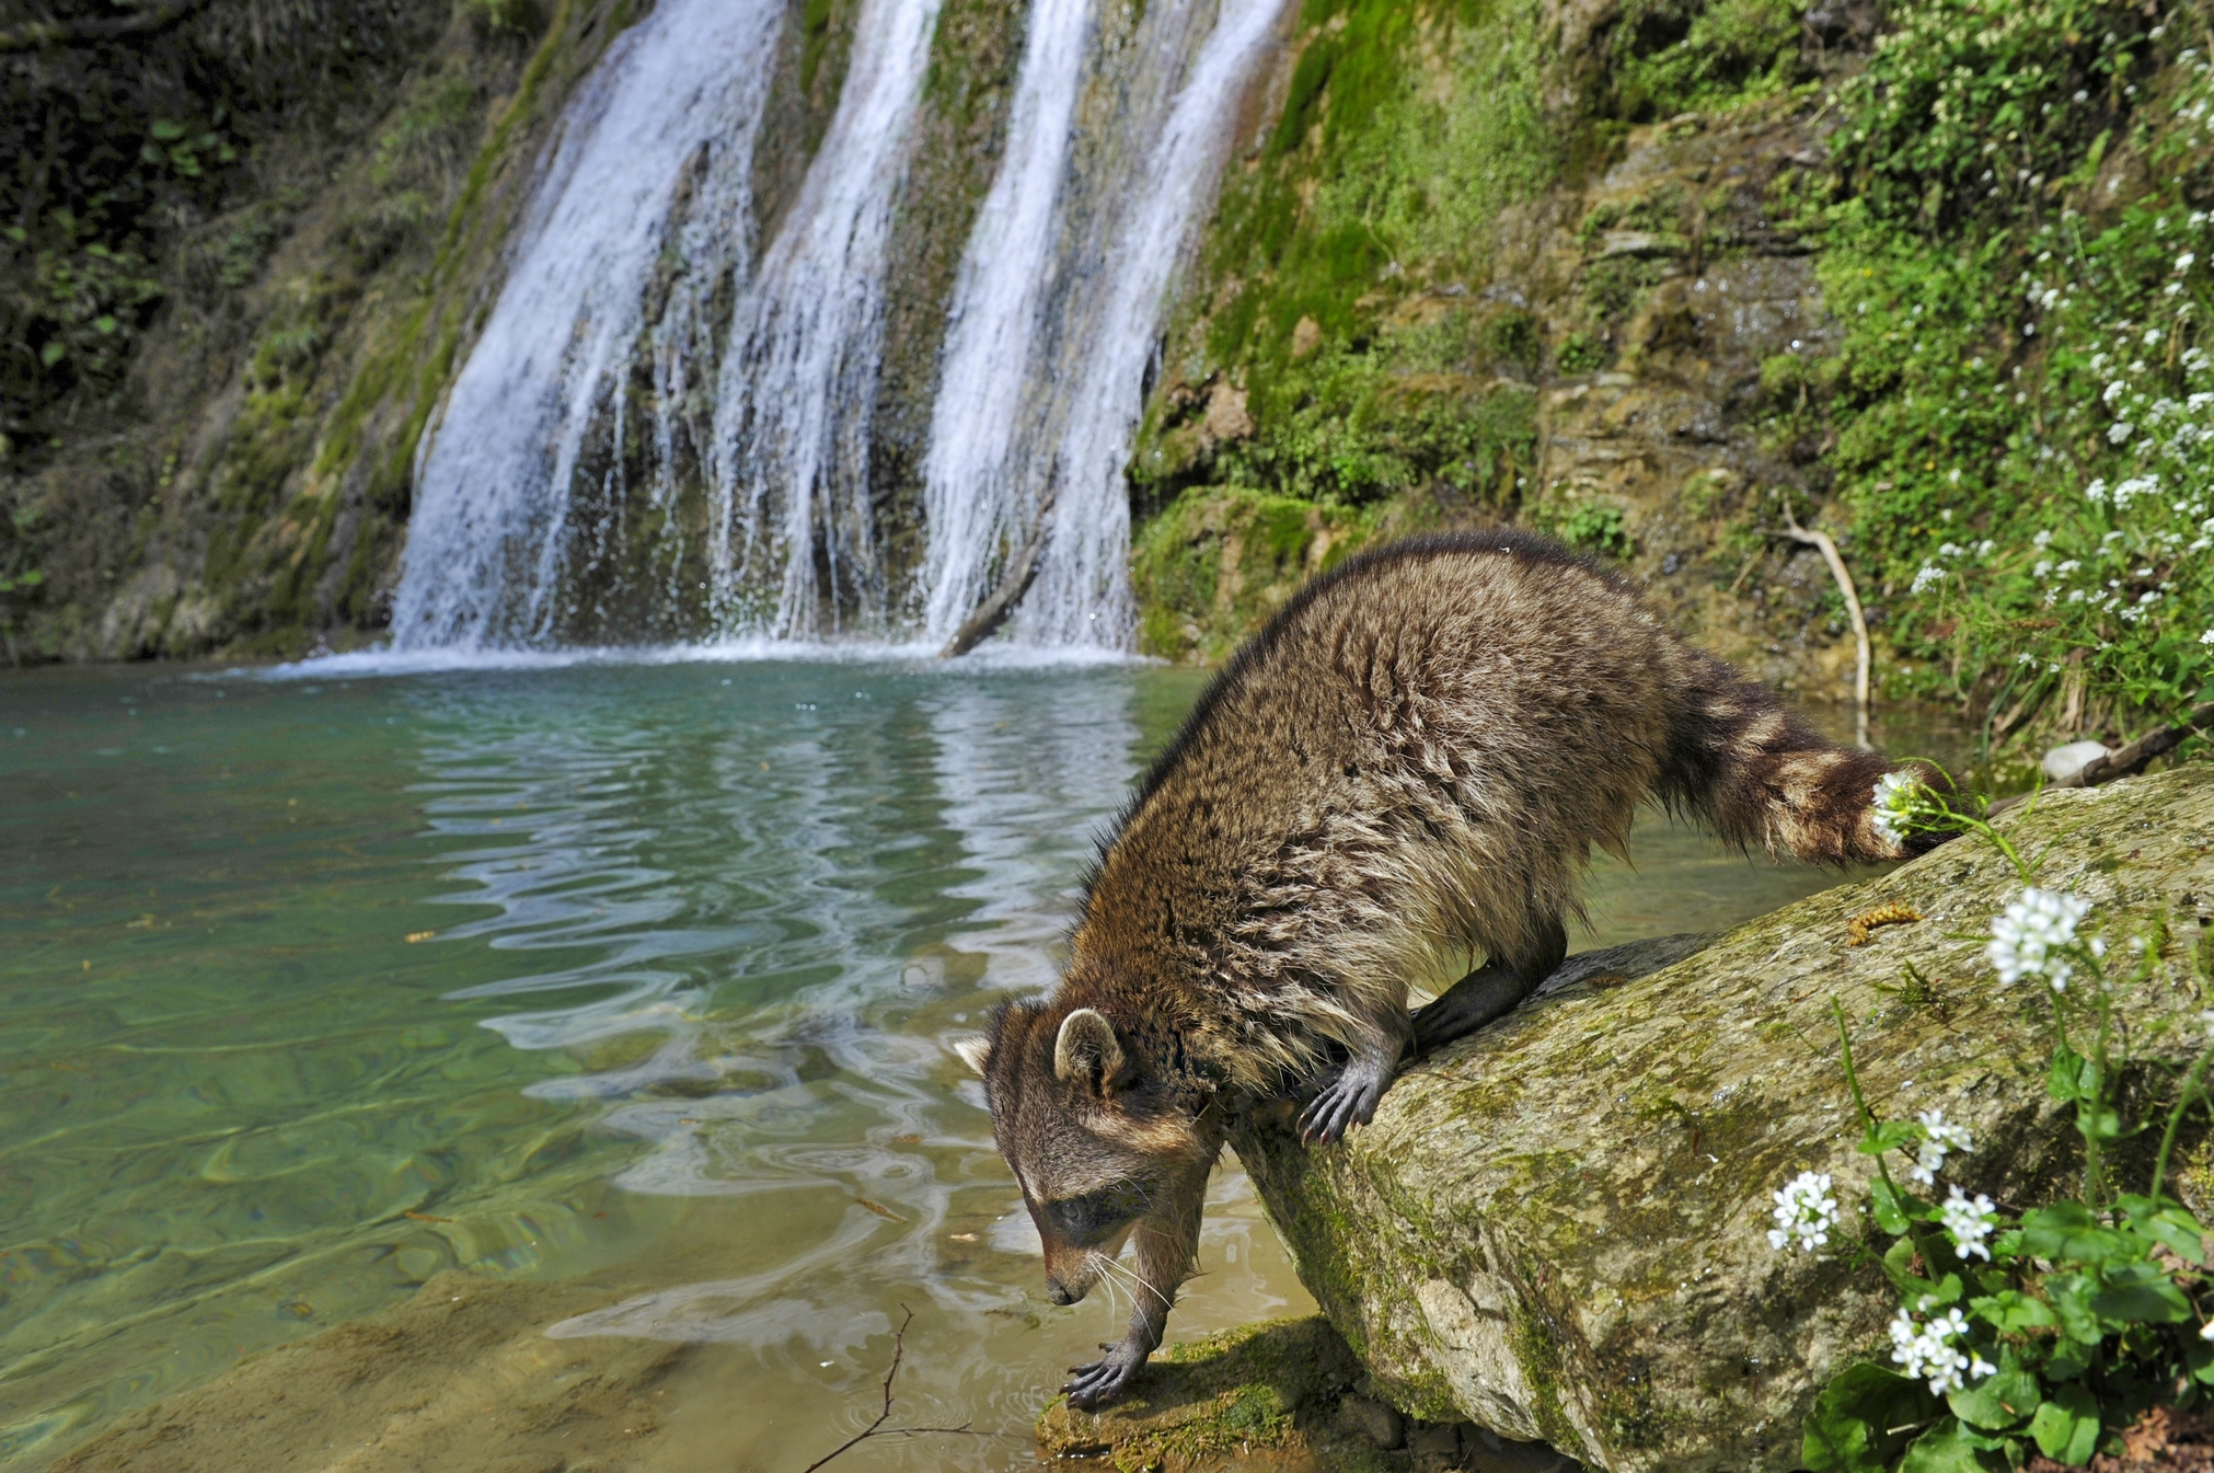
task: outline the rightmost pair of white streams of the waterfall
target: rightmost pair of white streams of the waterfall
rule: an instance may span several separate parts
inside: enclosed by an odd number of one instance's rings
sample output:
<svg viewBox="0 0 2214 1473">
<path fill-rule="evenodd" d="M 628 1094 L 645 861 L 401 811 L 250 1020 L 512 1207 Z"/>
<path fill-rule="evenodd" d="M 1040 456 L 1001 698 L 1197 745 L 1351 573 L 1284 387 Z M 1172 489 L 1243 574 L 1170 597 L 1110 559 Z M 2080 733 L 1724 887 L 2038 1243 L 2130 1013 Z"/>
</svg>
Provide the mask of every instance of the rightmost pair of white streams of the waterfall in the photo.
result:
<svg viewBox="0 0 2214 1473">
<path fill-rule="evenodd" d="M 937 640 L 954 636 L 996 580 L 1003 596 L 1023 596 L 1012 638 L 1129 647 L 1122 467 L 1145 368 L 1284 4 L 1147 7 L 1136 62 L 1116 78 L 1114 137 L 1092 148 L 1065 122 L 1080 86 L 1061 35 L 1076 29 L 1074 9 L 1038 0 L 1032 13 L 1047 33 L 1032 33 L 1007 168 L 954 297 L 928 461 Z M 1041 100 L 1025 113 L 1032 89 Z M 1007 224 L 992 213 L 1003 190 Z"/>
</svg>

